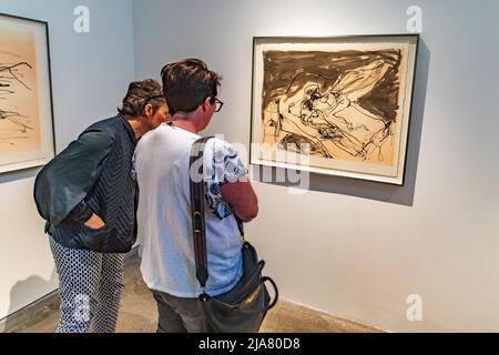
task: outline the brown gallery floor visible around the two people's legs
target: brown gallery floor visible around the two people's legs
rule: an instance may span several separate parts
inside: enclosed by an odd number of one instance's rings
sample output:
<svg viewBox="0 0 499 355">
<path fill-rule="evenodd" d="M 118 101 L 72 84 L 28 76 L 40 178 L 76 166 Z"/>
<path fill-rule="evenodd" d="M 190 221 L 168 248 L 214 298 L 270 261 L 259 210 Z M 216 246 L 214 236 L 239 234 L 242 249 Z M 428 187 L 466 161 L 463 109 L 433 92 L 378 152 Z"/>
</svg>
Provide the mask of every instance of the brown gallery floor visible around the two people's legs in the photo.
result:
<svg viewBox="0 0 499 355">
<path fill-rule="evenodd" d="M 134 257 L 125 266 L 125 292 L 121 303 L 119 333 L 154 333 L 156 306 L 144 285 L 139 270 L 140 260 Z M 7 326 L 7 332 L 52 333 L 58 323 L 58 302 L 51 302 L 37 311 L 38 321 Z M 262 326 L 262 333 L 378 333 L 364 326 L 316 312 L 289 302 L 279 301 Z"/>
</svg>

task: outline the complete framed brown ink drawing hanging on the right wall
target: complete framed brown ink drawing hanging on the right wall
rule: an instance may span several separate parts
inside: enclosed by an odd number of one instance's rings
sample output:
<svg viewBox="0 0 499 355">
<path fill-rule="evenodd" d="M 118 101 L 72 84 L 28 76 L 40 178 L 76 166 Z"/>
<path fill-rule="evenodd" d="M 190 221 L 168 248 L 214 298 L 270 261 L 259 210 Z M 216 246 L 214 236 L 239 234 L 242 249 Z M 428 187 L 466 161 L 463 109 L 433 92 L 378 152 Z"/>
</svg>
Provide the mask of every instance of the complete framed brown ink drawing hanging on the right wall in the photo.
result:
<svg viewBox="0 0 499 355">
<path fill-rule="evenodd" d="M 418 41 L 254 38 L 251 163 L 403 185 Z"/>
</svg>

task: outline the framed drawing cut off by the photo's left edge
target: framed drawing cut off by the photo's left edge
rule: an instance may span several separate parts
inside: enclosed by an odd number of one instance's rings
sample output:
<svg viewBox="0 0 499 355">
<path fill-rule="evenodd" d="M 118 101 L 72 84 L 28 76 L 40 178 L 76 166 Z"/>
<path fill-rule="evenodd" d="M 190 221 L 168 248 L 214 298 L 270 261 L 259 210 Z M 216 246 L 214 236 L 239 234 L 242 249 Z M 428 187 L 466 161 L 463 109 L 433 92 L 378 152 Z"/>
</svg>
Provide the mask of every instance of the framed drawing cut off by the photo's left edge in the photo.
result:
<svg viewBox="0 0 499 355">
<path fill-rule="evenodd" d="M 48 23 L 0 14 L 0 173 L 54 151 Z"/>
</svg>

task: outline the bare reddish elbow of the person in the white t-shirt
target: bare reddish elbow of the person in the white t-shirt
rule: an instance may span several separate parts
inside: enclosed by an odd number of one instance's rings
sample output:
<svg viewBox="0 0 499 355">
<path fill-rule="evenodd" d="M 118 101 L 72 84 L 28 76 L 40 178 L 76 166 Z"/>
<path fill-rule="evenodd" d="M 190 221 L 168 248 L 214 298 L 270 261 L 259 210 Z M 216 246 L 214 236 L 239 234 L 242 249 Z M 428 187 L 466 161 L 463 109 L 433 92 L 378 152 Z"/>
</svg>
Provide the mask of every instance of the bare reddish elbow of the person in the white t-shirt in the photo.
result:
<svg viewBox="0 0 499 355">
<path fill-rule="evenodd" d="M 226 183 L 221 186 L 221 192 L 241 221 L 248 223 L 257 216 L 258 197 L 249 182 Z"/>
</svg>

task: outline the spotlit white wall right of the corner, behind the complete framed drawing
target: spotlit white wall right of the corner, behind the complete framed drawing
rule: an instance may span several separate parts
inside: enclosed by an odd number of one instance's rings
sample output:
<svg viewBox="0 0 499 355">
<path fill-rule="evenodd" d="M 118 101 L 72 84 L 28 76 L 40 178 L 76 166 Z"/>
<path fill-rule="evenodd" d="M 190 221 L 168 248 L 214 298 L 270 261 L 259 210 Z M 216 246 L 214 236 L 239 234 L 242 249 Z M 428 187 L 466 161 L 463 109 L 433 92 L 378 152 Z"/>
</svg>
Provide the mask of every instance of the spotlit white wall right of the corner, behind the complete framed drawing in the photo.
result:
<svg viewBox="0 0 499 355">
<path fill-rule="evenodd" d="M 138 77 L 204 59 L 224 75 L 207 133 L 248 143 L 252 38 L 424 32 L 405 187 L 256 183 L 248 226 L 283 298 L 385 329 L 499 332 L 498 1 L 136 0 Z M 424 322 L 406 320 L 419 294 Z"/>
</svg>

